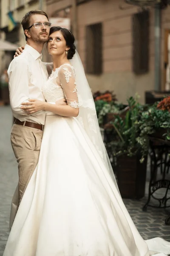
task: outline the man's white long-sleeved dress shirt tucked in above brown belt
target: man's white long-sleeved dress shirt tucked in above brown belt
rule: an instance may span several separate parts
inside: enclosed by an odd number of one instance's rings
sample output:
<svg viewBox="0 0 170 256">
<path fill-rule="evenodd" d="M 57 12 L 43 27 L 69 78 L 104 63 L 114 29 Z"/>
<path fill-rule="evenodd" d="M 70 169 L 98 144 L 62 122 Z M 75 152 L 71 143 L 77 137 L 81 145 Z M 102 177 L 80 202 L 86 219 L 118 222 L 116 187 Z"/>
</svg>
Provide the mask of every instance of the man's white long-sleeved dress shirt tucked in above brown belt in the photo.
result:
<svg viewBox="0 0 170 256">
<path fill-rule="evenodd" d="M 45 111 L 26 115 L 20 109 L 21 103 L 28 102 L 28 99 L 39 99 L 45 102 L 42 85 L 48 80 L 48 73 L 41 59 L 42 55 L 26 44 L 23 53 L 11 61 L 8 76 L 10 104 L 14 117 L 20 121 L 44 125 Z"/>
</svg>

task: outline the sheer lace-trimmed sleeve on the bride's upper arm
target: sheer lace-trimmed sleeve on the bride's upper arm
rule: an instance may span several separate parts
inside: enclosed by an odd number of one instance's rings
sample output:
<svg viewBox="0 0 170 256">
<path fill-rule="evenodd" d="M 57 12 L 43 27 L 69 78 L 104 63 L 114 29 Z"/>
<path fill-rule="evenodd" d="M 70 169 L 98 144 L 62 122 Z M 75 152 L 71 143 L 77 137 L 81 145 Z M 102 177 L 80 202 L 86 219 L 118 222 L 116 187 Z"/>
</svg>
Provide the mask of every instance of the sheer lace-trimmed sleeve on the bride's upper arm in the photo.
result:
<svg viewBox="0 0 170 256">
<path fill-rule="evenodd" d="M 73 68 L 69 65 L 63 65 L 59 70 L 59 80 L 67 104 L 72 108 L 79 108 L 75 72 Z"/>
</svg>

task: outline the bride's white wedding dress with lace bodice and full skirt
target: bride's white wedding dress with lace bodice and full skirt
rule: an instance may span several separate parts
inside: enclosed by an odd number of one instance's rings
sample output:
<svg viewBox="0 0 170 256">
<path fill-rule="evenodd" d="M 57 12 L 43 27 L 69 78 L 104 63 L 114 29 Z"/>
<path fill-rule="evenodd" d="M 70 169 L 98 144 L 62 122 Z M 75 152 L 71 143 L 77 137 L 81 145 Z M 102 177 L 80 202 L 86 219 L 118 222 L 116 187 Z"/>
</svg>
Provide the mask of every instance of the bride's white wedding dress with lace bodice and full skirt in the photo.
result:
<svg viewBox="0 0 170 256">
<path fill-rule="evenodd" d="M 52 72 L 47 102 L 78 107 L 71 65 Z M 147 243 L 151 250 L 148 250 Z M 137 231 L 99 152 L 77 118 L 47 113 L 40 158 L 3 256 L 163 256 L 170 243 Z"/>
</svg>

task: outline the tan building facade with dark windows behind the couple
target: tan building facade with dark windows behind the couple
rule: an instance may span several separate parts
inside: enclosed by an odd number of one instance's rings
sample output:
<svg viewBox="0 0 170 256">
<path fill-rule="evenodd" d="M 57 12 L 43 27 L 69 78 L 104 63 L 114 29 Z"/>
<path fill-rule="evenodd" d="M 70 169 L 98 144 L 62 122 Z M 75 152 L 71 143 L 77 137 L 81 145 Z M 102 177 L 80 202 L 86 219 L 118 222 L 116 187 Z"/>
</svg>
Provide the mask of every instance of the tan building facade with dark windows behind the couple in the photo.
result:
<svg viewBox="0 0 170 256">
<path fill-rule="evenodd" d="M 72 25 L 76 20 L 72 31 L 76 31 L 77 49 L 92 91 L 114 90 L 121 102 L 138 93 L 144 103 L 144 92 L 154 90 L 154 8 L 141 16 L 139 7 L 123 0 L 77 0 L 76 10 L 72 4 L 72 0 L 47 0 L 47 12 L 50 17 L 70 17 Z M 161 10 L 161 90 L 165 87 L 169 17 L 170 6 Z"/>
</svg>

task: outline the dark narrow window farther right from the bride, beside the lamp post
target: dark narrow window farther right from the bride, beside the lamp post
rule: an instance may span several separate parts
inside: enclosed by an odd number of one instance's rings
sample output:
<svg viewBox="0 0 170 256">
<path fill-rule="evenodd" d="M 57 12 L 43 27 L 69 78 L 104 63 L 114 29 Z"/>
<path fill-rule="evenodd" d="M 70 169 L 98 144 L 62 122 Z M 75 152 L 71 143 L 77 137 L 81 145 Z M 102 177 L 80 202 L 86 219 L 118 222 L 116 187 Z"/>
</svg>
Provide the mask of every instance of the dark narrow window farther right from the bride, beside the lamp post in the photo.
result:
<svg viewBox="0 0 170 256">
<path fill-rule="evenodd" d="M 139 12 L 132 17 L 133 72 L 144 74 L 149 71 L 149 11 Z"/>
</svg>

